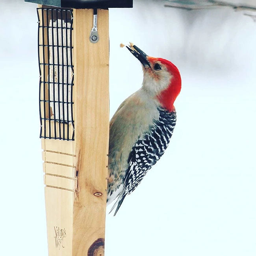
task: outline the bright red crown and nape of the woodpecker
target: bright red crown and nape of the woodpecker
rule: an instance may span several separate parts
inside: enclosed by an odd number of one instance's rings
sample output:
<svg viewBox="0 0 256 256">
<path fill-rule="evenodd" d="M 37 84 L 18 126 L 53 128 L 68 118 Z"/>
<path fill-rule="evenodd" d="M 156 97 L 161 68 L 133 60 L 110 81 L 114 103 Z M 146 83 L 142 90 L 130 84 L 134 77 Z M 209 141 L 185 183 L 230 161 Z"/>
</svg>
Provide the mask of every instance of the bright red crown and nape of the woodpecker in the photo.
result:
<svg viewBox="0 0 256 256">
<path fill-rule="evenodd" d="M 170 84 L 162 91 L 158 96 L 158 100 L 160 101 L 161 105 L 167 109 L 168 111 L 172 112 L 175 111 L 175 108 L 173 106 L 174 101 L 176 100 L 177 96 L 180 93 L 181 90 L 181 77 L 180 72 L 178 68 L 171 63 L 171 61 L 168 61 L 166 59 L 162 58 L 156 58 L 157 61 L 159 61 L 161 64 L 165 65 L 167 70 L 172 75 L 172 78 L 170 80 Z"/>
</svg>

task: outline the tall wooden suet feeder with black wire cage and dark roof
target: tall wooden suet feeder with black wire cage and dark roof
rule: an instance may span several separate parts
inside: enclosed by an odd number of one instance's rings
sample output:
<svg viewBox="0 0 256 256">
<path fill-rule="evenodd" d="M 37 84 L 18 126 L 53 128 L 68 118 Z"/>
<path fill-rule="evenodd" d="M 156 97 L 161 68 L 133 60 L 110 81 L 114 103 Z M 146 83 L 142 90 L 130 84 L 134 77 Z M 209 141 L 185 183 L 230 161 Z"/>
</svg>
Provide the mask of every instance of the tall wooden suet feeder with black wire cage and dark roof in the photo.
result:
<svg viewBox="0 0 256 256">
<path fill-rule="evenodd" d="M 39 4 L 39 112 L 49 256 L 103 256 L 109 137 L 109 7 Z"/>
</svg>

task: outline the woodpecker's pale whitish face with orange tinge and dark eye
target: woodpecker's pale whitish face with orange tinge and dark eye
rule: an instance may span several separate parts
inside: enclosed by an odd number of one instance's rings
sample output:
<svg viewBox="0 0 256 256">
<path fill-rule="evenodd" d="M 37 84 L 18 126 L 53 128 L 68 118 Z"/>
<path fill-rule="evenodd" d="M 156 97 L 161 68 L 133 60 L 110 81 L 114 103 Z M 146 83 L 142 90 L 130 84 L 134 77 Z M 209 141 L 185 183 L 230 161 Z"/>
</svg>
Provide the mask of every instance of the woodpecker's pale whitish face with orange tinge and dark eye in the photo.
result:
<svg viewBox="0 0 256 256">
<path fill-rule="evenodd" d="M 159 95 L 167 89 L 173 78 L 165 64 L 158 58 L 148 57 L 149 66 L 143 66 L 143 88 L 152 96 Z"/>
</svg>

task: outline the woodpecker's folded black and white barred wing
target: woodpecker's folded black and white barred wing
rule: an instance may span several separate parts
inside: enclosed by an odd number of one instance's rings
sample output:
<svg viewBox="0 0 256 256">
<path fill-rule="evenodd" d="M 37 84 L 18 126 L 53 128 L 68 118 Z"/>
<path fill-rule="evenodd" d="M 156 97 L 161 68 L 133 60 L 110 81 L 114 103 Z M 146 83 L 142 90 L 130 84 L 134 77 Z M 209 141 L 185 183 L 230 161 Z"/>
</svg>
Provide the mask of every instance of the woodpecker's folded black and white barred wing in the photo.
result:
<svg viewBox="0 0 256 256">
<path fill-rule="evenodd" d="M 176 113 L 160 111 L 160 118 L 154 124 L 146 134 L 137 139 L 131 150 L 121 193 L 111 209 L 112 211 L 117 205 L 115 214 L 119 210 L 126 195 L 134 191 L 141 183 L 147 171 L 165 152 L 176 124 Z"/>
</svg>

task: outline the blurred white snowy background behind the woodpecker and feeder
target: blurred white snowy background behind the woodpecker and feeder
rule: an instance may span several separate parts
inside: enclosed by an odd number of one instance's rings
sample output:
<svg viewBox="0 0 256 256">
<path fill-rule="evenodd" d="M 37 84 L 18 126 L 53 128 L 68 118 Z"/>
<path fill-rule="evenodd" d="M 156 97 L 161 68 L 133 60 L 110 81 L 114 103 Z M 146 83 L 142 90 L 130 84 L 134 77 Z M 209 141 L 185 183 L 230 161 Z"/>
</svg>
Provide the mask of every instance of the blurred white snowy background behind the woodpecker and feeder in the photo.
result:
<svg viewBox="0 0 256 256">
<path fill-rule="evenodd" d="M 169 148 L 107 215 L 105 254 L 255 256 L 256 23 L 163 3 L 109 11 L 110 117 L 142 81 L 121 42 L 176 64 L 182 91 Z M 46 256 L 36 5 L 0 0 L 0 10 L 0 255 Z"/>
</svg>

